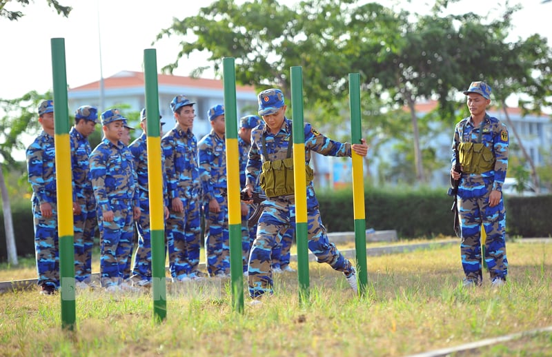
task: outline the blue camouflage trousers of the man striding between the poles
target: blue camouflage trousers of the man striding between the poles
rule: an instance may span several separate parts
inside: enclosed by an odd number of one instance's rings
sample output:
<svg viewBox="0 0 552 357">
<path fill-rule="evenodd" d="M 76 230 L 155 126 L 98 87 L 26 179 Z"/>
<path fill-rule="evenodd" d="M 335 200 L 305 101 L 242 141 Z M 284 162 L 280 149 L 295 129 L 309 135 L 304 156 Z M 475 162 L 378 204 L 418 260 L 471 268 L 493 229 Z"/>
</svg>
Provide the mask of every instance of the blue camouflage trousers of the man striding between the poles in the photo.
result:
<svg viewBox="0 0 552 357">
<path fill-rule="evenodd" d="M 249 256 L 248 285 L 252 298 L 273 294 L 272 249 L 277 246 L 287 230 L 295 230 L 294 198 L 270 198 L 262 205 L 263 213 L 257 225 L 257 238 L 253 242 Z M 315 254 L 316 261 L 328 263 L 338 272 L 350 276 L 353 266 L 328 240 L 318 207 L 308 209 L 307 216 L 308 249 Z"/>
</svg>

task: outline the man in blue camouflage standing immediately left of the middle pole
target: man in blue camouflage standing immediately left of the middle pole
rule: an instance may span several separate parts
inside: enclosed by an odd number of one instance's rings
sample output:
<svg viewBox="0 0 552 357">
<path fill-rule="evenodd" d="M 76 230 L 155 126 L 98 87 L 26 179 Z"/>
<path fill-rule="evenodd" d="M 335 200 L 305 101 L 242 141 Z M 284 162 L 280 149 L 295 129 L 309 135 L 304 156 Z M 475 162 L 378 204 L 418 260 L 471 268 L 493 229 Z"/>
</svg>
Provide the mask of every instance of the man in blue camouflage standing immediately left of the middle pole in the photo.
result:
<svg viewBox="0 0 552 357">
<path fill-rule="evenodd" d="M 210 276 L 224 277 L 230 274 L 228 202 L 222 196 L 226 189 L 224 105 L 210 108 L 207 116 L 213 129 L 197 144 L 204 217 L 208 227 L 205 234 L 207 272 Z"/>
</svg>

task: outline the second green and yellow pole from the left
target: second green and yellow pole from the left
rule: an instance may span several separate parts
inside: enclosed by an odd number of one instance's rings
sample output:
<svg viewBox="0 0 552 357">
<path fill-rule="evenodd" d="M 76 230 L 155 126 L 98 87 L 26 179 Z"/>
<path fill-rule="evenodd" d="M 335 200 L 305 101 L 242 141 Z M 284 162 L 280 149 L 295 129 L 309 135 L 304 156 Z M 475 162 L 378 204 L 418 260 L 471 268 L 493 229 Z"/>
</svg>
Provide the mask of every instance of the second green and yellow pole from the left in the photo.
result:
<svg viewBox="0 0 552 357">
<path fill-rule="evenodd" d="M 160 322 L 167 316 L 167 288 L 159 90 L 157 86 L 157 56 L 153 48 L 144 50 L 144 84 L 146 87 L 146 118 L 148 119 L 146 145 L 148 147 L 153 316 L 157 322 Z"/>
</svg>

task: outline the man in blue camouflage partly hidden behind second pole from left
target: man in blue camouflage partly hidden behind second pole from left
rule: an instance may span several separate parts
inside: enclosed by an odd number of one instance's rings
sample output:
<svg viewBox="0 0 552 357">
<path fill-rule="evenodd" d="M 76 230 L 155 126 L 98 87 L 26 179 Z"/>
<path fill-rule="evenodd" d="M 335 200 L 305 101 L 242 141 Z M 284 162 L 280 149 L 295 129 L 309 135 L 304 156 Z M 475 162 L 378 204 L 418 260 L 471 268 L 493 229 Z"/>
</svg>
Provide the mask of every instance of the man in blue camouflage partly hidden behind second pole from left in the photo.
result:
<svg viewBox="0 0 552 357">
<path fill-rule="evenodd" d="M 148 184 L 148 119 L 146 118 L 146 108 L 142 109 L 140 114 L 140 127 L 144 131 L 129 148 L 134 157 L 134 167 L 138 176 L 138 188 L 140 197 L 140 218 L 136 221 L 138 230 L 138 249 L 131 276 L 133 283 L 138 286 L 149 286 L 151 284 L 151 232 L 150 232 L 150 190 Z M 159 115 L 161 119 L 161 115 Z M 164 123 L 161 123 L 163 125 Z M 161 154 L 161 161 L 163 155 Z M 162 165 L 163 166 L 163 165 Z M 163 175 L 164 177 L 164 175 Z M 165 219 L 168 218 L 168 208 L 166 207 L 166 184 L 164 188 L 164 211 Z"/>
</svg>

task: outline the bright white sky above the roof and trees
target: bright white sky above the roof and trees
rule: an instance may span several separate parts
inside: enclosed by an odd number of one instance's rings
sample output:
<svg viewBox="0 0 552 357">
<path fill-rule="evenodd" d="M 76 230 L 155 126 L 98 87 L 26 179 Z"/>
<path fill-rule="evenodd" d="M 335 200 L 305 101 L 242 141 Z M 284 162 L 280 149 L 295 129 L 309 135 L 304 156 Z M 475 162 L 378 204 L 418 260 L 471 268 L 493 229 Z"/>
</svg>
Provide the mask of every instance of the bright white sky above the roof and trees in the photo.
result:
<svg viewBox="0 0 552 357">
<path fill-rule="evenodd" d="M 513 40 L 539 33 L 552 42 L 552 3 L 524 0 L 524 9 L 514 15 Z M 34 0 L 21 8 L 8 1 L 6 8 L 21 10 L 19 21 L 0 19 L 0 98 L 14 99 L 30 90 L 52 88 L 50 39 L 64 38 L 67 81 L 76 87 L 97 81 L 100 74 L 111 76 L 121 70 L 141 71 L 144 49 L 157 50 L 157 67 L 175 61 L 179 39 L 164 38 L 152 45 L 161 29 L 170 27 L 174 17 L 184 19 L 199 12 L 208 0 L 60 0 L 73 7 L 68 18 L 58 15 L 45 0 Z M 237 1 L 239 3 L 244 2 Z M 290 6 L 298 0 L 281 0 Z M 386 6 L 423 11 L 434 1 L 386 1 Z M 451 12 L 499 13 L 504 1 L 461 0 Z M 515 2 L 512 2 L 515 3 Z M 101 66 L 99 55 L 101 39 Z M 175 74 L 187 76 L 193 68 L 206 65 L 206 55 L 181 59 Z M 209 74 L 208 74 L 209 75 Z M 208 76 L 207 75 L 207 76 Z M 346 76 L 346 74 L 344 74 Z"/>
</svg>

